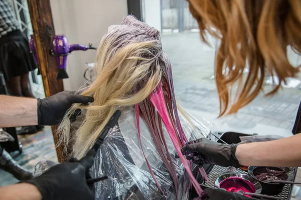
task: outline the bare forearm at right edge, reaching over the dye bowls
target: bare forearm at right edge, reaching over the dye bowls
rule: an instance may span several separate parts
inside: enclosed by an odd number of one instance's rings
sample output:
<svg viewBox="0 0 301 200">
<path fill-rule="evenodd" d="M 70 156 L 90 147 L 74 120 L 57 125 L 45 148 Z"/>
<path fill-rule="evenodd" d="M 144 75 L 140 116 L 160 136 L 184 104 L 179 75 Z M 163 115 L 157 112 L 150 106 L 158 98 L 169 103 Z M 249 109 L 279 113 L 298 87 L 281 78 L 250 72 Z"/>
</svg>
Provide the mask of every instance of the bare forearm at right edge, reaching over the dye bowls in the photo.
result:
<svg viewBox="0 0 301 200">
<path fill-rule="evenodd" d="M 239 144 L 235 156 L 245 166 L 301 166 L 301 134 L 283 139 Z"/>
</svg>

